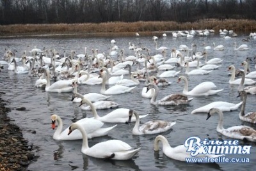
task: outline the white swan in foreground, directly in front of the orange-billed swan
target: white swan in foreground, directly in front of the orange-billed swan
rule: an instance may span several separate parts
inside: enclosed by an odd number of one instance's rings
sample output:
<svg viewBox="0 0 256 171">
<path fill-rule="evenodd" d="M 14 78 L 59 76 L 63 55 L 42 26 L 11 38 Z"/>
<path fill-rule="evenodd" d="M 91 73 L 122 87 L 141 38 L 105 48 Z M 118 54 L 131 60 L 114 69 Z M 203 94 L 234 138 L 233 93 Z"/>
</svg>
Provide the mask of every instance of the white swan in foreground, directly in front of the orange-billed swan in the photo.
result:
<svg viewBox="0 0 256 171">
<path fill-rule="evenodd" d="M 138 151 L 138 149 L 132 149 L 132 147 L 122 142 L 121 140 L 108 140 L 105 142 L 99 142 L 92 147 L 88 146 L 88 135 L 84 128 L 77 123 L 72 123 L 69 127 L 68 135 L 74 130 L 81 131 L 83 136 L 83 145 L 81 151 L 83 154 L 92 156 L 93 158 L 105 158 L 111 160 L 129 160 L 131 159 Z"/>
</svg>

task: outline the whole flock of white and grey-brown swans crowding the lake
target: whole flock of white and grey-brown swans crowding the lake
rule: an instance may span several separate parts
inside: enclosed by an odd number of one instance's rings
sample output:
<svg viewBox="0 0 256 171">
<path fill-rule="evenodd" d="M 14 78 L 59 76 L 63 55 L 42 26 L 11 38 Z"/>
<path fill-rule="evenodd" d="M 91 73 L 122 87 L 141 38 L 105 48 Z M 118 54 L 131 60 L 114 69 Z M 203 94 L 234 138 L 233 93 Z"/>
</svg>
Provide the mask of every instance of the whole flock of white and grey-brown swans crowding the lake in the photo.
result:
<svg viewBox="0 0 256 171">
<path fill-rule="evenodd" d="M 136 33 L 136 36 L 140 35 Z M 166 38 L 166 34 L 163 37 Z M 204 52 L 197 52 L 195 43 L 191 45 L 191 48 L 187 45 L 180 45 L 179 48 L 169 48 L 158 47 L 159 38 L 156 36 L 152 40 L 155 45 L 155 49 L 152 51 L 156 51 L 156 54 L 153 54 L 148 48 L 136 47 L 129 43 L 127 50 L 133 50 L 134 56 L 125 57 L 125 49 L 118 50 L 116 41 L 112 40 L 109 53 L 102 54 L 99 54 L 98 50 L 95 49 L 92 50 L 92 53 L 87 52 L 87 48 L 85 48 L 84 54 L 76 54 L 72 50 L 70 56 L 66 56 L 66 54 L 62 56 L 56 50 L 34 48 L 31 50 L 31 56 L 28 56 L 28 53 L 24 51 L 21 57 L 17 57 L 15 56 L 17 52 L 6 50 L 4 53 L 5 61 L 0 61 L 0 64 L 2 70 L 6 68 L 6 70 L 13 71 L 15 74 L 28 74 L 31 77 L 38 77 L 34 83 L 35 86 L 45 89 L 47 92 L 72 93 L 72 103 L 80 103 L 79 108 L 81 110 L 92 110 L 93 117 L 86 117 L 72 123 L 65 130 L 62 129 L 61 116 L 52 114 L 52 129 L 55 129 L 56 123 L 58 123 L 58 128 L 53 135 L 54 140 L 83 139 L 81 151 L 88 156 L 128 160 L 140 152 L 141 147 L 131 147 L 122 140 L 108 140 L 89 147 L 88 139 L 108 135 L 110 131 L 115 130 L 117 125 L 115 123 L 131 124 L 135 122 L 132 135 L 155 134 L 155 151 L 159 151 L 159 142 L 161 142 L 166 156 L 174 160 L 185 161 L 185 158 L 191 156 L 184 145 L 171 147 L 163 135 L 158 135 L 170 129 L 175 129 L 175 124 L 179 124 L 179 122 L 153 120 L 140 124 L 140 121 L 143 122 L 148 114 L 140 115 L 138 111 L 132 108 L 120 108 L 122 104 L 108 99 L 116 94 L 131 93 L 140 84 L 145 84 L 143 89 L 140 90 L 141 97 L 149 98 L 152 105 L 188 105 L 194 98 L 221 94 L 223 89 L 209 80 L 198 83 L 195 87 L 189 87 L 188 77 L 189 75 L 196 75 L 196 77 L 211 75 L 218 68 L 223 67 L 224 59 L 211 57 L 210 60 L 207 60 L 207 57 L 210 57 L 207 49 L 211 47 L 204 47 Z M 215 46 L 214 44 L 212 49 L 225 50 L 225 47 L 223 45 Z M 171 52 L 171 57 L 166 59 L 168 50 Z M 249 50 L 249 48 L 244 44 L 237 47 L 235 42 L 234 50 Z M 219 133 L 227 138 L 256 142 L 256 130 L 250 126 L 240 125 L 227 129 L 223 128 L 223 112 L 237 110 L 239 107 L 241 107 L 239 119 L 253 124 L 256 123 L 256 112 L 249 112 L 248 114 L 244 112 L 247 94 L 256 94 L 256 81 L 253 80 L 253 78 L 256 78 L 256 71 L 251 71 L 249 65 L 250 61 L 246 60 L 241 61 L 244 70 L 237 71 L 231 63 L 227 68 L 227 71 L 231 72 L 227 84 L 238 86 L 237 91 L 243 101 L 236 104 L 227 101 L 214 101 L 203 107 L 195 108 L 191 113 L 208 113 L 207 119 L 217 113 L 219 122 L 216 130 Z M 136 68 L 136 66 L 138 67 Z M 141 69 L 141 66 L 143 66 L 143 69 Z M 186 68 L 184 73 L 182 73 L 182 68 Z M 124 78 L 124 75 L 128 75 L 128 78 Z M 159 87 L 171 85 L 172 83 L 166 80 L 170 77 L 175 78 L 179 85 L 181 84 L 184 87 L 183 91 L 168 94 L 158 100 L 157 95 L 161 91 Z M 51 84 L 51 82 L 53 83 Z M 79 86 L 98 84 L 102 85 L 98 93 L 79 93 Z M 103 116 L 97 114 L 97 110 L 107 108 L 111 108 L 112 111 Z M 104 123 L 114 124 L 108 128 L 103 128 Z M 197 157 L 205 156 L 216 158 L 219 155 L 205 154 Z"/>
</svg>

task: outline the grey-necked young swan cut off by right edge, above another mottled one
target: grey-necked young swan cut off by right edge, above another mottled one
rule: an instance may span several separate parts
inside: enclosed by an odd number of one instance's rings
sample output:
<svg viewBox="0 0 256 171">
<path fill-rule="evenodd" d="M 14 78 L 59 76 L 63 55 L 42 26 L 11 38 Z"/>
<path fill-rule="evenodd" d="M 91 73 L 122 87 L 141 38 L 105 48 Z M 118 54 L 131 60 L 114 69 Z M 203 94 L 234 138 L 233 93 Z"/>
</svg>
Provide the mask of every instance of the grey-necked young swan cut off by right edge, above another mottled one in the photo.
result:
<svg viewBox="0 0 256 171">
<path fill-rule="evenodd" d="M 239 119 L 241 119 L 242 121 L 246 121 L 246 122 L 255 124 L 256 123 L 256 112 L 249 112 L 247 114 L 244 114 L 247 93 L 245 91 L 241 91 L 237 97 L 239 97 L 239 96 L 241 96 L 242 100 L 243 100 L 242 107 L 239 112 Z"/>
</svg>

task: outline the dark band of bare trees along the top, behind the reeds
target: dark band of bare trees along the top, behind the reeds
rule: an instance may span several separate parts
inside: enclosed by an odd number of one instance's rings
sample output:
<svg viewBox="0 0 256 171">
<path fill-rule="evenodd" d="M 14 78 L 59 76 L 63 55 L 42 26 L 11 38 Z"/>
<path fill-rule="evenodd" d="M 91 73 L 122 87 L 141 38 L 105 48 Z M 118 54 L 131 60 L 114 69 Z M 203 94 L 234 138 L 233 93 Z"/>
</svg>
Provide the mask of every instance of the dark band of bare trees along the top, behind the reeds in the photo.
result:
<svg viewBox="0 0 256 171">
<path fill-rule="evenodd" d="M 0 24 L 256 19 L 255 0 L 0 0 Z"/>
</svg>

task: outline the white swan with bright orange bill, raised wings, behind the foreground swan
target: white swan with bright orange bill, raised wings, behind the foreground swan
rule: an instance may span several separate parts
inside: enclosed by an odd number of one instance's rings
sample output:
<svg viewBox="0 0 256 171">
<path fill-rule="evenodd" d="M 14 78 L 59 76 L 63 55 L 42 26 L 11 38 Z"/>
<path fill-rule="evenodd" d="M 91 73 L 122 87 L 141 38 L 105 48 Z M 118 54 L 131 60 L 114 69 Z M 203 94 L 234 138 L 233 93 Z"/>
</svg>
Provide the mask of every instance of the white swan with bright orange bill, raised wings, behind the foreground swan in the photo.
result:
<svg viewBox="0 0 256 171">
<path fill-rule="evenodd" d="M 66 128 L 64 131 L 62 131 L 63 128 L 63 121 L 59 115 L 53 114 L 51 115 L 52 120 L 52 130 L 55 129 L 55 123 L 57 121 L 58 127 L 53 135 L 54 140 L 80 140 L 82 139 L 82 134 L 77 130 L 72 133 L 72 135 L 68 136 L 68 128 Z M 109 131 L 113 130 L 117 126 L 111 126 L 108 128 L 101 128 L 104 123 L 102 123 L 99 120 L 96 119 L 90 119 L 90 118 L 83 118 L 76 122 L 76 124 L 79 124 L 83 129 L 85 129 L 88 133 L 88 138 L 93 137 L 101 137 L 108 135 Z"/>
</svg>

